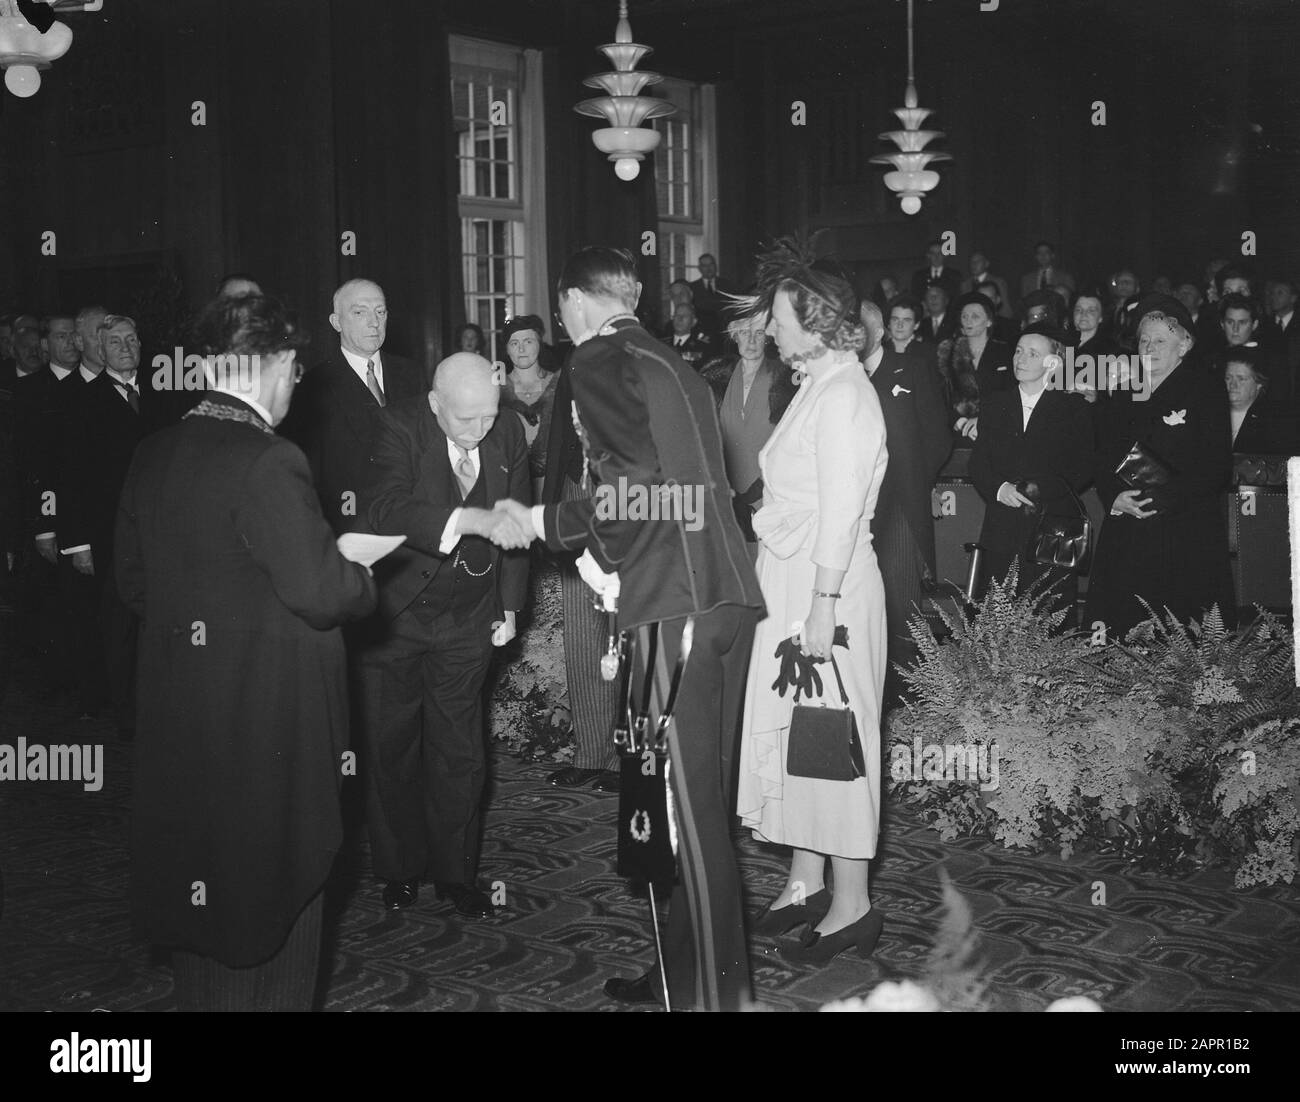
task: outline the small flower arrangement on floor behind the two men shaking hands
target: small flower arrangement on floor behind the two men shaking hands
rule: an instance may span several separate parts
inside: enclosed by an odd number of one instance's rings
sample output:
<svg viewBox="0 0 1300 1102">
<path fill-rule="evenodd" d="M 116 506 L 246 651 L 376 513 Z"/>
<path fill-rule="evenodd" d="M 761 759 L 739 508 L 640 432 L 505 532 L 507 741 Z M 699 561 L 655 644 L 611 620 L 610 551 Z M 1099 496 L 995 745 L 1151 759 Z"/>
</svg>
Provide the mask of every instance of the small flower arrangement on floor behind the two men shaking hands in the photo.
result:
<svg viewBox="0 0 1300 1102">
<path fill-rule="evenodd" d="M 564 608 L 554 560 L 533 560 L 530 619 L 498 654 L 491 694 L 493 738 L 520 758 L 573 760 L 573 724 L 564 669 Z"/>
</svg>

